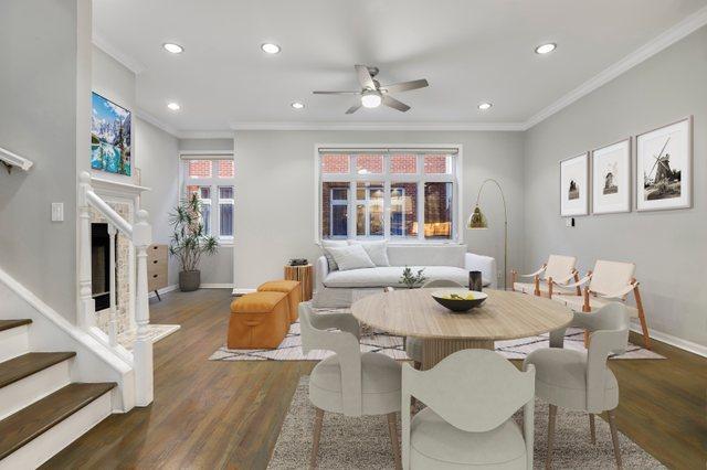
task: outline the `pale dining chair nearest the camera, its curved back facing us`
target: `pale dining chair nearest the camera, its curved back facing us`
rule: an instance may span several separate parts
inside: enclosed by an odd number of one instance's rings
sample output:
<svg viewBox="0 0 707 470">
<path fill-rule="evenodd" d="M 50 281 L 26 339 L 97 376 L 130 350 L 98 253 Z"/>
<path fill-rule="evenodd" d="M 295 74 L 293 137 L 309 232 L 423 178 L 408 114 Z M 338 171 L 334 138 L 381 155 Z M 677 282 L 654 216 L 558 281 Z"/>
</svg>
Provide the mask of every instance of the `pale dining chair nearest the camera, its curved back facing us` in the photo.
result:
<svg viewBox="0 0 707 470">
<path fill-rule="evenodd" d="M 426 407 L 411 419 L 410 399 Z M 523 410 L 523 432 L 513 415 Z M 535 372 L 487 350 L 402 370 L 403 469 L 531 469 Z"/>
</svg>

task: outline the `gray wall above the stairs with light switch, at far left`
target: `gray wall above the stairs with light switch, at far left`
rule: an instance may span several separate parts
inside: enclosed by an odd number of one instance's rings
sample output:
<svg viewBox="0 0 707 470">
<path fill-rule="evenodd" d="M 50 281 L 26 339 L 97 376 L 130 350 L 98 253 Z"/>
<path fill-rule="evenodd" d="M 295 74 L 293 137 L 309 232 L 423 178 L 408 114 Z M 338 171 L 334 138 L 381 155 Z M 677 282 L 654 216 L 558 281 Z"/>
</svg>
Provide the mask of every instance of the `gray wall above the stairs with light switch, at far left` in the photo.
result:
<svg viewBox="0 0 707 470">
<path fill-rule="evenodd" d="M 88 99 L 77 95 L 89 86 L 89 14 L 86 0 L 0 2 L 0 147 L 34 162 L 0 171 L 0 267 L 70 321 L 76 178 L 91 151 Z M 64 222 L 51 222 L 52 202 L 64 203 Z"/>
</svg>

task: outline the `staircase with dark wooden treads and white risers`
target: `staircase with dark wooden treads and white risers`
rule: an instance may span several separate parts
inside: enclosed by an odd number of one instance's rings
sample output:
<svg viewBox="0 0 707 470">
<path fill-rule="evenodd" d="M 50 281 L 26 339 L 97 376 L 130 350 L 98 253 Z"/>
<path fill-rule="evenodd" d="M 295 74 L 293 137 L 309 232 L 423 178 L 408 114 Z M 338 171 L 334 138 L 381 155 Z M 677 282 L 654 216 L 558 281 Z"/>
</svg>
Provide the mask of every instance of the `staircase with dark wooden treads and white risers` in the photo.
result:
<svg viewBox="0 0 707 470">
<path fill-rule="evenodd" d="M 36 468 L 113 413 L 108 383 L 74 383 L 75 352 L 30 351 L 31 320 L 0 320 L 0 470 Z"/>
</svg>

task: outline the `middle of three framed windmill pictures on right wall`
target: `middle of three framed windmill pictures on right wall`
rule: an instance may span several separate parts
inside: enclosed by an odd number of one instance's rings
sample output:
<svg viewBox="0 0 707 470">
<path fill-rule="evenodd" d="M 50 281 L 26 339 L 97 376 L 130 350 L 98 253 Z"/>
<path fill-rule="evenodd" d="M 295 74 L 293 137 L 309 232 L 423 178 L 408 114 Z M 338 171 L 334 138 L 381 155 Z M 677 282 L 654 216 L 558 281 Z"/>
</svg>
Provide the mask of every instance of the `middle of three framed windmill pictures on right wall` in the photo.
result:
<svg viewBox="0 0 707 470">
<path fill-rule="evenodd" d="M 631 139 L 592 151 L 592 213 L 631 212 Z"/>
</svg>

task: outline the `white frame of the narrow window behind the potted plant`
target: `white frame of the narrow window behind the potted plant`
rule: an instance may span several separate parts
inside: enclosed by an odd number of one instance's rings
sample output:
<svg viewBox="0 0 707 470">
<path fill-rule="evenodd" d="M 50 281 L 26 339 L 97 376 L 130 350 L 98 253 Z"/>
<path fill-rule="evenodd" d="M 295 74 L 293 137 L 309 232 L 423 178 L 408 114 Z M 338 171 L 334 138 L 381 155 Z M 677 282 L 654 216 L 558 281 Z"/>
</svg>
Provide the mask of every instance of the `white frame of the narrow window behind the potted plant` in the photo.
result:
<svg viewBox="0 0 707 470">
<path fill-rule="evenodd" d="M 212 235 L 217 237 L 222 246 L 232 246 L 235 235 L 235 204 L 234 199 L 221 200 L 220 186 L 233 186 L 233 195 L 235 196 L 235 163 L 233 178 L 219 178 L 219 160 L 233 160 L 232 151 L 184 151 L 179 153 L 179 197 L 187 196 L 187 186 L 209 186 L 210 188 L 210 205 L 211 205 L 211 224 Z M 189 160 L 211 160 L 211 178 L 189 178 Z M 233 236 L 221 236 L 221 204 L 233 204 Z M 213 233 L 215 232 L 215 234 Z"/>
</svg>

